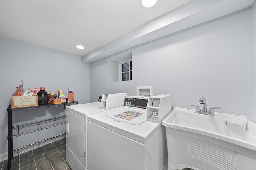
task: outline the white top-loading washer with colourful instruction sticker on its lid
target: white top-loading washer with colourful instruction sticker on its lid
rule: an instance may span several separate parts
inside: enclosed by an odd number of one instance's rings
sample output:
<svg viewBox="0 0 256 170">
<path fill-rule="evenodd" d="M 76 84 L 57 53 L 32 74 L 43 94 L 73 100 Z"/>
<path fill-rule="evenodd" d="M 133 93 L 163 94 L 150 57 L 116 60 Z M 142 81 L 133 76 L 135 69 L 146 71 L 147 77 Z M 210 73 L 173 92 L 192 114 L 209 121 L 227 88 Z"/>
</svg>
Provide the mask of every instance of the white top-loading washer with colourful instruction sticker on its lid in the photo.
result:
<svg viewBox="0 0 256 170">
<path fill-rule="evenodd" d="M 88 170 L 165 170 L 166 132 L 147 121 L 148 98 L 126 96 L 122 107 L 88 115 Z"/>
</svg>

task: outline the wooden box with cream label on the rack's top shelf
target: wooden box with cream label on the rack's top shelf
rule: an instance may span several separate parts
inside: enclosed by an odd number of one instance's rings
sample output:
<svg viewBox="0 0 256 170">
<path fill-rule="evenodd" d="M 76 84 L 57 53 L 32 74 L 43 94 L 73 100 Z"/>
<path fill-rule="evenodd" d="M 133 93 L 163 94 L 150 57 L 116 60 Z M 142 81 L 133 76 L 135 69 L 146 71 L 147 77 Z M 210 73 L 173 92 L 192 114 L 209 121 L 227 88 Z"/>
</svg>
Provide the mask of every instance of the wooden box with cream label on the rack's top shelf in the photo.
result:
<svg viewBox="0 0 256 170">
<path fill-rule="evenodd" d="M 12 109 L 30 106 L 38 106 L 38 96 L 12 96 Z"/>
</svg>

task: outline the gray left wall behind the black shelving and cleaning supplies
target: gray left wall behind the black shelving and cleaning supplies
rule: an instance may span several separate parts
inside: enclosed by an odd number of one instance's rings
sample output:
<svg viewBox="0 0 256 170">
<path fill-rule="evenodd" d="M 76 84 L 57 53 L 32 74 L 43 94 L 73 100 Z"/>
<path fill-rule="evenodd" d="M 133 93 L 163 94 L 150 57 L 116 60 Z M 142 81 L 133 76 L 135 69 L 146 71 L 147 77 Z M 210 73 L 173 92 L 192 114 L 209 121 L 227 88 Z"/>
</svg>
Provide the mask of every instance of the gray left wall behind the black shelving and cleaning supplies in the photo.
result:
<svg viewBox="0 0 256 170">
<path fill-rule="evenodd" d="M 89 102 L 89 64 L 81 58 L 28 43 L 0 37 L 0 157 L 7 152 L 7 107 L 16 87 L 24 80 L 25 88 L 45 87 L 57 92 L 73 89 L 75 100 Z M 13 124 L 64 115 L 64 107 L 15 111 Z M 65 130 L 64 130 L 65 131 Z M 26 142 L 31 139 L 26 139 Z"/>
</svg>

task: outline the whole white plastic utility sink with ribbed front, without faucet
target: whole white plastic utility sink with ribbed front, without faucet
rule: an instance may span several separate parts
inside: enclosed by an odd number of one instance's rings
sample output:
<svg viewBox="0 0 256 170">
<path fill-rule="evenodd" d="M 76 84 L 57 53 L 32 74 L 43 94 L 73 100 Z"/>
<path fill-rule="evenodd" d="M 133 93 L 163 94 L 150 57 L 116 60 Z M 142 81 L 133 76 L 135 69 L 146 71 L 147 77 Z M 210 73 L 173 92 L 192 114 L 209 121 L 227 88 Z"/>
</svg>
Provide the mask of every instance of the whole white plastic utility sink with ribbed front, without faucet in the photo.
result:
<svg viewBox="0 0 256 170">
<path fill-rule="evenodd" d="M 168 170 L 245 170 L 256 167 L 256 123 L 246 116 L 195 113 L 175 107 L 166 127 Z"/>
</svg>

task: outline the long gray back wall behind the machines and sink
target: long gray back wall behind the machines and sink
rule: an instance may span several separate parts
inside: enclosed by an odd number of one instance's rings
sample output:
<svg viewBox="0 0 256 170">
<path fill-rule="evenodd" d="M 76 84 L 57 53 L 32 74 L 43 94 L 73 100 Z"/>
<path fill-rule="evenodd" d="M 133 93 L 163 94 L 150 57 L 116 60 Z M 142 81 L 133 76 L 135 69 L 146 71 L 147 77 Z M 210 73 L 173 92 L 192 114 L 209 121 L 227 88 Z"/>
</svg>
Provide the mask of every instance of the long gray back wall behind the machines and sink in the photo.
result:
<svg viewBox="0 0 256 170">
<path fill-rule="evenodd" d="M 116 55 L 90 63 L 90 102 L 96 101 L 99 93 L 136 95 L 136 86 L 153 86 L 153 95 L 172 94 L 172 108 L 193 108 L 191 104 L 199 105 L 199 98 L 205 97 L 208 107 L 248 114 L 250 10 L 130 51 L 130 82 L 108 82 L 108 59 Z"/>
</svg>

